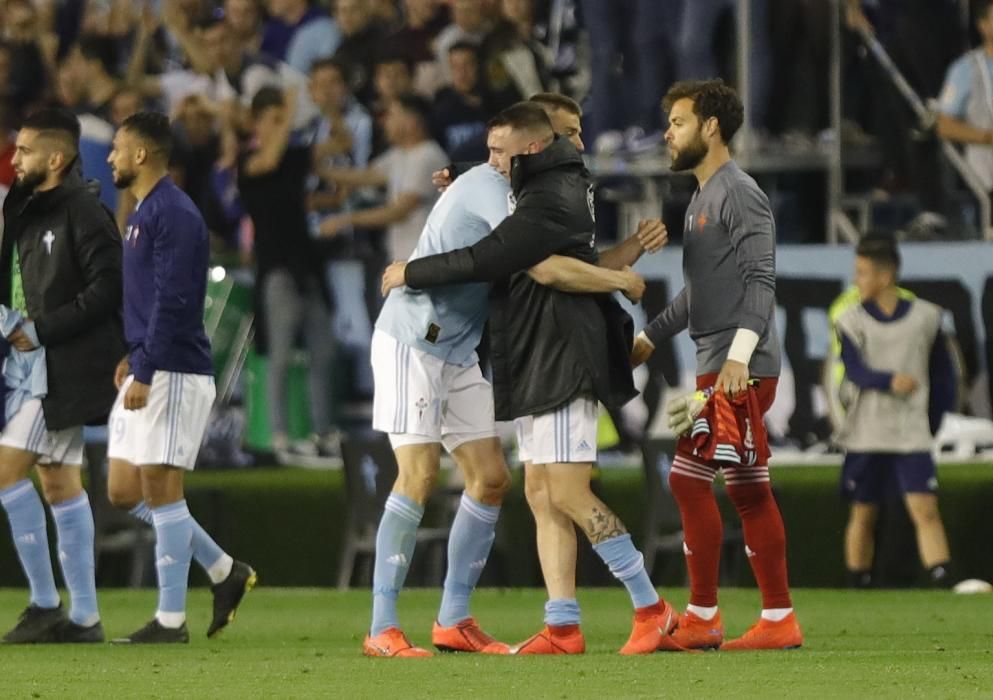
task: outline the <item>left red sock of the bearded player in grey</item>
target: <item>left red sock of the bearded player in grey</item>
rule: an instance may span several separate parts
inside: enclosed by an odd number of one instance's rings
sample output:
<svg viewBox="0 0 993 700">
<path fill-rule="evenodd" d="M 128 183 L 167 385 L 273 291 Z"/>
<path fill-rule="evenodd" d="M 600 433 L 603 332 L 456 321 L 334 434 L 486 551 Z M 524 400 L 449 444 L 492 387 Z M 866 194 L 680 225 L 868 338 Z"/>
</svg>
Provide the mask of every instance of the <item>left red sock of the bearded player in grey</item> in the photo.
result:
<svg viewBox="0 0 993 700">
<path fill-rule="evenodd" d="M 724 526 L 710 481 L 677 472 L 669 474 L 669 488 L 683 521 L 683 551 L 690 574 L 690 605 L 717 605 L 717 579 L 721 565 Z"/>
</svg>

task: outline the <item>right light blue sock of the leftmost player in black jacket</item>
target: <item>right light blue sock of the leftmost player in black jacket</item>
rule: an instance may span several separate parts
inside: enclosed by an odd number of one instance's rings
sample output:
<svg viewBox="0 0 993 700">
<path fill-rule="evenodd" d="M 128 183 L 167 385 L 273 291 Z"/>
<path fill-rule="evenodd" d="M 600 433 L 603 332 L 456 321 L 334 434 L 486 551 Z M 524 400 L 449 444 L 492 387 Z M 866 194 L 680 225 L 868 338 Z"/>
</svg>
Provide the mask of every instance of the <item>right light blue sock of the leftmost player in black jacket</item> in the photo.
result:
<svg viewBox="0 0 993 700">
<path fill-rule="evenodd" d="M 59 536 L 59 563 L 72 605 L 69 619 L 89 627 L 100 620 L 97 609 L 96 563 L 93 553 L 93 511 L 86 492 L 52 506 Z"/>
</svg>

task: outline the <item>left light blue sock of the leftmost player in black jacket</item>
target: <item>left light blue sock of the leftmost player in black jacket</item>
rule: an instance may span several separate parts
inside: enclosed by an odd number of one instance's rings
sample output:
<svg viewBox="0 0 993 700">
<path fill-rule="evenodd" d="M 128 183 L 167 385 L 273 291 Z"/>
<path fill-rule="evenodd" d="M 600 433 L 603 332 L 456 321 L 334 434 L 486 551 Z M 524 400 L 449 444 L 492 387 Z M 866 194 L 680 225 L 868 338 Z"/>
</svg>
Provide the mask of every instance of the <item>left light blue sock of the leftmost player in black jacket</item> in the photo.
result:
<svg viewBox="0 0 993 700">
<path fill-rule="evenodd" d="M 52 557 L 48 551 L 48 526 L 45 508 L 38 492 L 28 479 L 0 491 L 0 503 L 7 511 L 14 547 L 24 575 L 31 587 L 31 602 L 39 608 L 56 608 L 59 592 L 55 589 Z"/>
</svg>

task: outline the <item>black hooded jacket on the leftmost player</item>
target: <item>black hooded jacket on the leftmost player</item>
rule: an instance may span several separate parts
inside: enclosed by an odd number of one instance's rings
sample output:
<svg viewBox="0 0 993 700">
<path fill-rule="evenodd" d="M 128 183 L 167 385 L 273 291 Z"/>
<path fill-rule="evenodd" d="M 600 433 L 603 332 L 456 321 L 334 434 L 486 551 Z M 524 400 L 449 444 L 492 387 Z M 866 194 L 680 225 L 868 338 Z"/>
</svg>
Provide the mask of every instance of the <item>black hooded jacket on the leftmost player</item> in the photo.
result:
<svg viewBox="0 0 993 700">
<path fill-rule="evenodd" d="M 0 303 L 10 306 L 16 241 L 28 316 L 45 346 L 45 423 L 62 430 L 103 421 L 117 395 L 114 369 L 126 353 L 114 218 L 78 161 L 54 189 L 31 193 L 15 185 L 3 215 Z"/>
</svg>

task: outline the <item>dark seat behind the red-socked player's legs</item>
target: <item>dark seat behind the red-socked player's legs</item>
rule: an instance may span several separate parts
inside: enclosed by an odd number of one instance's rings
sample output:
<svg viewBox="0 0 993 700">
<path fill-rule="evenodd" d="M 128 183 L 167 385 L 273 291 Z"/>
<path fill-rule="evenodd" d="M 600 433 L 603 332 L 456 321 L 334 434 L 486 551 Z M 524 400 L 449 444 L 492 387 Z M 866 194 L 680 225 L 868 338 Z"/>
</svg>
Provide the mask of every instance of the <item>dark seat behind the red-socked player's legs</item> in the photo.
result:
<svg viewBox="0 0 993 700">
<path fill-rule="evenodd" d="M 652 575 L 658 556 L 675 558 L 677 566 L 684 568 L 683 530 L 679 508 L 669 490 L 669 455 L 676 452 L 675 439 L 650 439 L 642 444 L 642 464 L 645 474 L 645 491 L 648 508 L 645 511 L 644 542 L 645 570 Z M 716 486 L 717 502 L 722 513 L 728 508 L 723 486 Z M 745 538 L 737 521 L 724 522 L 724 546 L 721 552 L 721 583 L 740 584 L 741 565 L 744 560 Z M 666 566 L 668 566 L 666 561 Z M 662 577 L 658 578 L 663 580 Z"/>
</svg>

